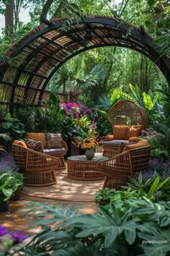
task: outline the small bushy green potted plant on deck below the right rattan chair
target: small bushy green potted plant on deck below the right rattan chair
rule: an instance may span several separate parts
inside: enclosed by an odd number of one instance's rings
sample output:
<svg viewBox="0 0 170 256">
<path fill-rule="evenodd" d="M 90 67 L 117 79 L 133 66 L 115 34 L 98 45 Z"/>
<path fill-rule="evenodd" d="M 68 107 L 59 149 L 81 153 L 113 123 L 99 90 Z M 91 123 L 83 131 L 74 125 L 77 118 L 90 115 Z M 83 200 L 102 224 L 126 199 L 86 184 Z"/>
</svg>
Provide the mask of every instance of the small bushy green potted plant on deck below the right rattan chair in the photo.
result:
<svg viewBox="0 0 170 256">
<path fill-rule="evenodd" d="M 94 201 L 99 203 L 99 205 L 107 205 L 110 202 L 110 197 L 115 196 L 115 192 L 115 189 L 109 189 L 108 187 L 99 189 L 94 195 Z"/>
</svg>

